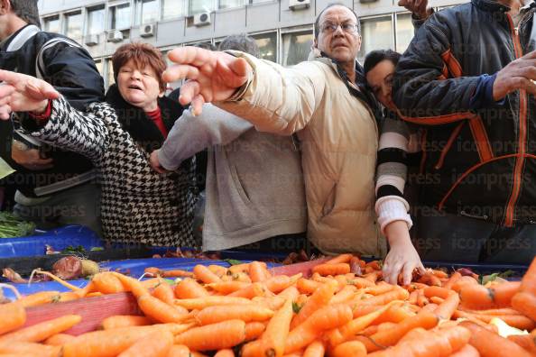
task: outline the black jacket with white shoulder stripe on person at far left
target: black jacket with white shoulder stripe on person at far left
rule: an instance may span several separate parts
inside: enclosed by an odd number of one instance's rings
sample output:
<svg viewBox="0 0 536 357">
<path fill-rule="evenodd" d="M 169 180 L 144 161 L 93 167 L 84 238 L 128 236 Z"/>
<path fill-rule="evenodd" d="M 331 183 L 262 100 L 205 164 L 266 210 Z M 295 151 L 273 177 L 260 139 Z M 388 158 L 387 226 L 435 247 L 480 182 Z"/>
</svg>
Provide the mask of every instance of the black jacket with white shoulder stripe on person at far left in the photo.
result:
<svg viewBox="0 0 536 357">
<path fill-rule="evenodd" d="M 81 111 L 92 102 L 104 100 L 104 82 L 88 51 L 65 36 L 39 31 L 34 25 L 24 26 L 0 44 L 0 68 L 46 80 Z M 38 68 L 40 73 L 36 72 Z M 25 114 L 19 115 L 24 122 Z M 25 196 L 47 196 L 94 178 L 93 165 L 82 155 L 28 142 L 15 132 L 16 140 L 39 148 L 44 157 L 54 160 L 52 169 L 24 169 L 11 158 L 12 132 L 11 123 L 0 124 L 0 156 L 18 171 L 6 178 L 7 182 L 13 181 Z"/>
</svg>

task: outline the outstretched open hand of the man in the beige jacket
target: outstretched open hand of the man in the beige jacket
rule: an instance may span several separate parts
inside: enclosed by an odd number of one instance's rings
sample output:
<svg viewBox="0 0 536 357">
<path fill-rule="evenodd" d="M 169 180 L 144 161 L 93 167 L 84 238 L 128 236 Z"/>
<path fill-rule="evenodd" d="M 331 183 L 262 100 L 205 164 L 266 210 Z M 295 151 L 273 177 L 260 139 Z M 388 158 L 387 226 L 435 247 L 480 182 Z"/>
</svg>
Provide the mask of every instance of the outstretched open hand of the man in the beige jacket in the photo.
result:
<svg viewBox="0 0 536 357">
<path fill-rule="evenodd" d="M 166 82 L 189 79 L 180 87 L 181 105 L 191 103 L 194 115 L 201 113 L 204 103 L 230 98 L 247 81 L 251 66 L 245 59 L 225 52 L 183 47 L 171 50 L 168 57 L 175 63 L 166 69 Z"/>
</svg>

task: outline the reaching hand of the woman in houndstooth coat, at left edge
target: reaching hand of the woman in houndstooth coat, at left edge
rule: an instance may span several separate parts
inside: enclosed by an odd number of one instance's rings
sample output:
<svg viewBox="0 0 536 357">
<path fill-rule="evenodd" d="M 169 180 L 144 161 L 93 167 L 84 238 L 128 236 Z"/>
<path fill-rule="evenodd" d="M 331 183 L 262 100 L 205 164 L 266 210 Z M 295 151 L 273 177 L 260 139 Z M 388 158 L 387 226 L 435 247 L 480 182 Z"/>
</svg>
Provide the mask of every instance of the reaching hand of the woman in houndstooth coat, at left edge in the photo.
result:
<svg viewBox="0 0 536 357">
<path fill-rule="evenodd" d="M 42 113 L 49 99 L 60 94 L 44 80 L 0 69 L 0 119 L 7 120 L 11 112 Z"/>
</svg>

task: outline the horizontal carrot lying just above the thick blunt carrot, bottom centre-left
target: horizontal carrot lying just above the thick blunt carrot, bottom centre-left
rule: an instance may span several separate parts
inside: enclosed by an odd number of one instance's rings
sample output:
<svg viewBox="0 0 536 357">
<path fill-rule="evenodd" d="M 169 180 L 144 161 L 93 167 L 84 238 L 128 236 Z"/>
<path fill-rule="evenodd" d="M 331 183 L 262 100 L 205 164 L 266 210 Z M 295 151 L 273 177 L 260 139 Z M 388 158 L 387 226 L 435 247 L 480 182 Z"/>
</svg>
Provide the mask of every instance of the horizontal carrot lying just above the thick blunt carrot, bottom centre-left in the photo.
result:
<svg viewBox="0 0 536 357">
<path fill-rule="evenodd" d="M 273 311 L 259 305 L 226 305 L 205 307 L 196 315 L 199 325 L 210 325 L 226 320 L 242 320 L 244 322 L 265 321 L 273 316 Z"/>
</svg>

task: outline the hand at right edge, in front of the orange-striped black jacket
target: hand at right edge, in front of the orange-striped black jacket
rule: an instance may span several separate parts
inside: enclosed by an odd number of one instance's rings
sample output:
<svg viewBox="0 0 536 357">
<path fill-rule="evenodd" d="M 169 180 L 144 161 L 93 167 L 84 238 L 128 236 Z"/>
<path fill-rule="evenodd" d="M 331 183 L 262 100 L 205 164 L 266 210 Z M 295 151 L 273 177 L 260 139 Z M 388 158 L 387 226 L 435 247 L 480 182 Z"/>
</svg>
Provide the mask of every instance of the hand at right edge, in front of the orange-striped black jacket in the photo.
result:
<svg viewBox="0 0 536 357">
<path fill-rule="evenodd" d="M 497 73 L 493 89 L 494 100 L 501 100 L 517 89 L 525 89 L 532 96 L 536 96 L 534 80 L 536 80 L 536 50 L 527 53 L 521 59 L 513 60 Z"/>
</svg>

